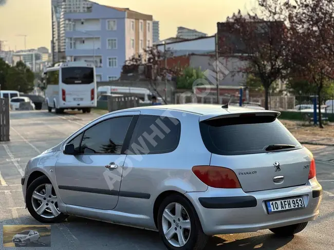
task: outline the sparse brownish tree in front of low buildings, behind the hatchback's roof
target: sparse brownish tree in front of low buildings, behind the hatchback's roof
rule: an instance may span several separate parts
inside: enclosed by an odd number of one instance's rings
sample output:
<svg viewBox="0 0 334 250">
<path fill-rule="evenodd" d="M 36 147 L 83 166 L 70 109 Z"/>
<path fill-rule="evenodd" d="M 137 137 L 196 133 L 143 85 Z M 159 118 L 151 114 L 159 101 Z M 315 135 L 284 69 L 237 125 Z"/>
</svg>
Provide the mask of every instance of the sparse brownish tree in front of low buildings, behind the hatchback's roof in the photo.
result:
<svg viewBox="0 0 334 250">
<path fill-rule="evenodd" d="M 144 78 L 150 81 L 151 87 L 159 95 L 164 103 L 166 100 L 158 91 L 158 82 L 166 80 L 175 80 L 183 70 L 179 65 L 173 67 L 164 66 L 164 58 L 172 57 L 173 53 L 170 50 L 161 52 L 157 47 L 144 49 L 142 54 L 133 55 L 126 60 L 122 67 L 122 74 L 140 73 Z M 166 91 L 166 90 L 165 90 Z"/>
</svg>

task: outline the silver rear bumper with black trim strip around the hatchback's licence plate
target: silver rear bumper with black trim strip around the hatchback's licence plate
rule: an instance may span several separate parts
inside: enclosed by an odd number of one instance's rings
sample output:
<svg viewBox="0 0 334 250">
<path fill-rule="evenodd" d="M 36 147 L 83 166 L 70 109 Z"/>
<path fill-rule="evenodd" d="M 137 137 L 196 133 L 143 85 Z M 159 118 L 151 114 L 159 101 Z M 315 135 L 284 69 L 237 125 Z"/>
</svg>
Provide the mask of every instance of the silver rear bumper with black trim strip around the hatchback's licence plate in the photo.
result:
<svg viewBox="0 0 334 250">
<path fill-rule="evenodd" d="M 244 193 L 242 189 L 208 188 L 185 194 L 194 204 L 207 235 L 255 232 L 312 221 L 319 214 L 322 187 L 316 178 L 298 187 Z M 302 196 L 305 208 L 268 214 L 265 201 Z"/>
</svg>

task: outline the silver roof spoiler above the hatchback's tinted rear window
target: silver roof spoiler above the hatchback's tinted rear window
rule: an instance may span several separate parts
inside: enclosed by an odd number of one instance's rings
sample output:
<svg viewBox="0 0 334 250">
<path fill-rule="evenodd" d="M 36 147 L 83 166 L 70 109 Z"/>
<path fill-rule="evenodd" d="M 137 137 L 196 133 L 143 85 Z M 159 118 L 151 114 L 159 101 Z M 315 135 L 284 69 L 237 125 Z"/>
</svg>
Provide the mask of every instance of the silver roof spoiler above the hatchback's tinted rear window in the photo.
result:
<svg viewBox="0 0 334 250">
<path fill-rule="evenodd" d="M 208 114 L 203 114 L 199 118 L 199 122 L 203 121 L 210 121 L 210 120 L 215 120 L 215 119 L 221 119 L 221 118 L 233 118 L 233 117 L 240 117 L 240 116 L 273 116 L 273 117 L 279 117 L 281 112 L 279 111 L 271 111 L 271 110 L 245 110 L 245 111 L 240 111 L 237 113 L 226 113 L 226 112 L 215 112 L 215 113 L 208 113 Z"/>
</svg>

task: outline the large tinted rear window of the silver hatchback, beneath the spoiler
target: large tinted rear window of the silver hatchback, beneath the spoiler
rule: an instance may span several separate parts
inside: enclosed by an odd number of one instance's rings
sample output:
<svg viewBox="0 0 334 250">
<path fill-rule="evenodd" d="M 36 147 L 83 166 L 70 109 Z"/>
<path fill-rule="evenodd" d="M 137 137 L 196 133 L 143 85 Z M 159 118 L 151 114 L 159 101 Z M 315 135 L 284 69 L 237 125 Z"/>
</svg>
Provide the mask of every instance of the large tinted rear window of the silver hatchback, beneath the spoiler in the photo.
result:
<svg viewBox="0 0 334 250">
<path fill-rule="evenodd" d="M 200 122 L 200 133 L 207 149 L 216 155 L 263 153 L 273 144 L 288 144 L 293 150 L 302 145 L 284 125 L 272 116 L 222 118 Z"/>
</svg>

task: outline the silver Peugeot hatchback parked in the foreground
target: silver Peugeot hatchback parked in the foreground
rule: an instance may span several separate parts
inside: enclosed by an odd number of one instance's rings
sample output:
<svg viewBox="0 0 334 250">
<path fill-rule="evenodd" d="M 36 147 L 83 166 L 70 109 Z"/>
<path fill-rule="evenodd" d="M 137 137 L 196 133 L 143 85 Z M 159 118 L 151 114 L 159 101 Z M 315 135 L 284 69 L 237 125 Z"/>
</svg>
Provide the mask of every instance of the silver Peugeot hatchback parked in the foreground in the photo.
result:
<svg viewBox="0 0 334 250">
<path fill-rule="evenodd" d="M 30 214 L 158 230 L 169 249 L 203 249 L 215 234 L 301 232 L 322 187 L 312 153 L 276 111 L 208 104 L 105 114 L 31 159 Z"/>
</svg>

